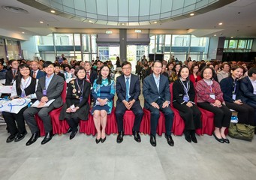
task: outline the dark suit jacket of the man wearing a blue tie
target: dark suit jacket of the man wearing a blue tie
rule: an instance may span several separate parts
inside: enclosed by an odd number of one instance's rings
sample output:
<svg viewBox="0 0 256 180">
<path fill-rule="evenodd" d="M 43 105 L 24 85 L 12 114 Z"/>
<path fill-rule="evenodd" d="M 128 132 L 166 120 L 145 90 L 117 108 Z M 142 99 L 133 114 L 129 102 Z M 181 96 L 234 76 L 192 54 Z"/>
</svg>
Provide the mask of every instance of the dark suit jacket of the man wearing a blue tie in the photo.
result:
<svg viewBox="0 0 256 180">
<path fill-rule="evenodd" d="M 132 101 L 133 99 L 135 101 L 140 101 L 140 80 L 139 77 L 137 77 L 134 74 L 131 74 L 129 94 L 131 96 L 129 98 L 129 101 Z M 122 101 L 125 100 L 126 80 L 124 75 L 121 75 L 116 78 L 116 95 L 118 97 L 116 104 L 122 103 Z"/>
</svg>

